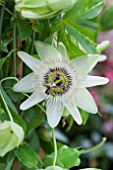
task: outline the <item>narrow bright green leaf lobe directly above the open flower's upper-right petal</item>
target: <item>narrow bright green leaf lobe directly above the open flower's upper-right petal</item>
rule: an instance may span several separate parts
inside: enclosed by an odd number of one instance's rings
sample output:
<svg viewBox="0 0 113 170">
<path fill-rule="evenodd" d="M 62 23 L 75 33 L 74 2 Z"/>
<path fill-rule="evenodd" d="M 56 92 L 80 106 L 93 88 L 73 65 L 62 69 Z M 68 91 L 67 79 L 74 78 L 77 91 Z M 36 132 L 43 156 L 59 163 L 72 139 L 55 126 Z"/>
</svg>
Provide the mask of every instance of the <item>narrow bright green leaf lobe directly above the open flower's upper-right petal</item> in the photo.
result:
<svg viewBox="0 0 113 170">
<path fill-rule="evenodd" d="M 82 56 L 85 54 L 79 47 L 77 47 L 70 39 L 69 35 L 66 34 L 64 26 L 61 25 L 59 32 L 58 32 L 58 41 L 63 42 L 66 46 L 68 55 L 70 59 Z"/>
</svg>

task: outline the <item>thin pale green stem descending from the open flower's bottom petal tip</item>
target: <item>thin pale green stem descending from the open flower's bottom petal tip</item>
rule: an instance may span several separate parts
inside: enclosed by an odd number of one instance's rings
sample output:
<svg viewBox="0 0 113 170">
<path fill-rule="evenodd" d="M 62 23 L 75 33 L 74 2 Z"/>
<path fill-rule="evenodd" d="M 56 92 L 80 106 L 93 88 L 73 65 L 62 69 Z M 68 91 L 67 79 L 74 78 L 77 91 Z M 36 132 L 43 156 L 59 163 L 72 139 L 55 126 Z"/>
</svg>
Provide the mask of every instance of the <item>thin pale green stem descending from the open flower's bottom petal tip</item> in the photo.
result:
<svg viewBox="0 0 113 170">
<path fill-rule="evenodd" d="M 56 143 L 56 138 L 55 138 L 55 132 L 54 129 L 52 128 L 52 136 L 53 136 L 53 143 L 54 143 L 54 160 L 53 160 L 53 166 L 56 165 L 56 160 L 57 160 L 57 143 Z"/>
</svg>

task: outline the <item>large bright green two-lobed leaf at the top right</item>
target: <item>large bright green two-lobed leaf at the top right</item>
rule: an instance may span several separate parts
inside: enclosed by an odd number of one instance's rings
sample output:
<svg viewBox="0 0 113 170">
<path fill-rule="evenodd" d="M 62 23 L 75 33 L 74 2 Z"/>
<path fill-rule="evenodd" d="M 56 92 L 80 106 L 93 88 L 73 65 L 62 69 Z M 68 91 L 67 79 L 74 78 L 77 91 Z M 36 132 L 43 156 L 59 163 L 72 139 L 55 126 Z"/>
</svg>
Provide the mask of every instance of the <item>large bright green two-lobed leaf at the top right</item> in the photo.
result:
<svg viewBox="0 0 113 170">
<path fill-rule="evenodd" d="M 97 16 L 103 4 L 103 0 L 79 0 L 63 18 L 66 30 L 88 53 L 96 53 L 96 32 L 85 27 L 84 20 Z"/>
</svg>

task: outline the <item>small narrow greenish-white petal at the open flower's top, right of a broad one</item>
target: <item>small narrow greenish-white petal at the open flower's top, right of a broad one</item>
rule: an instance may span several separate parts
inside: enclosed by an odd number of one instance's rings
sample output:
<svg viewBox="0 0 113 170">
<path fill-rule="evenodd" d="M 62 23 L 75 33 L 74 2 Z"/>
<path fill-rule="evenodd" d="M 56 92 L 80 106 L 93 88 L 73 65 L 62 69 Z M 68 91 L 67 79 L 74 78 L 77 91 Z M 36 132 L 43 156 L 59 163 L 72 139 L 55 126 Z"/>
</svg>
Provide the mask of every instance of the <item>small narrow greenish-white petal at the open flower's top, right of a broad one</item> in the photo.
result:
<svg viewBox="0 0 113 170">
<path fill-rule="evenodd" d="M 64 59 L 69 59 L 66 47 L 62 42 L 58 43 L 58 51 L 63 56 Z"/>
</svg>

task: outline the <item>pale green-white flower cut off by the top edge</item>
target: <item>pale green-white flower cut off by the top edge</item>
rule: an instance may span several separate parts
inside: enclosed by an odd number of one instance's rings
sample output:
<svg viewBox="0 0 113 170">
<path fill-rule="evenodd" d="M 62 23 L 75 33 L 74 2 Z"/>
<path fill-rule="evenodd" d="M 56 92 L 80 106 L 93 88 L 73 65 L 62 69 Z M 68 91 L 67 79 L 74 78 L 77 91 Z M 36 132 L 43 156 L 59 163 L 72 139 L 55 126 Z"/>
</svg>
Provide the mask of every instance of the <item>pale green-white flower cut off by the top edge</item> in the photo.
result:
<svg viewBox="0 0 113 170">
<path fill-rule="evenodd" d="M 25 18 L 47 19 L 73 7 L 77 0 L 15 0 L 16 10 Z"/>
</svg>

